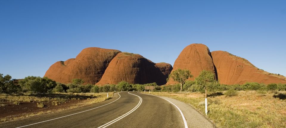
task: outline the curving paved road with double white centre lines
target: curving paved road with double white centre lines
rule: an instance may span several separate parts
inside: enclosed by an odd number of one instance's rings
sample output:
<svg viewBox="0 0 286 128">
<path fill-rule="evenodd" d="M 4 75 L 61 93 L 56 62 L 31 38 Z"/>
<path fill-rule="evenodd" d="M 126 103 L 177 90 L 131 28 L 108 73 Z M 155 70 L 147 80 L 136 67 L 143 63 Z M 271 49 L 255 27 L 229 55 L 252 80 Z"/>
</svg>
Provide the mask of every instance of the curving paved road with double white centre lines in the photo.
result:
<svg viewBox="0 0 286 128">
<path fill-rule="evenodd" d="M 0 124 L 0 127 L 5 128 L 22 126 L 31 128 L 185 127 L 179 110 L 173 104 L 156 96 L 136 92 L 116 93 L 114 98 L 88 107 Z"/>
</svg>

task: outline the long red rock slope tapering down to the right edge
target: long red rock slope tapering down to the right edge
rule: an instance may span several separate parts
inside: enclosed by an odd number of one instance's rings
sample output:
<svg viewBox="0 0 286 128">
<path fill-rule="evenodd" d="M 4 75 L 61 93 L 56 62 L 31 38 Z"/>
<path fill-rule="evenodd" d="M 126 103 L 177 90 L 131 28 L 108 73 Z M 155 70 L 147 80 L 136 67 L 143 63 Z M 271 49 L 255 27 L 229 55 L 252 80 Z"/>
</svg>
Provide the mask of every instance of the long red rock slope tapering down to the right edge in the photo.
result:
<svg viewBox="0 0 286 128">
<path fill-rule="evenodd" d="M 221 84 L 233 85 L 245 82 L 286 83 L 286 77 L 263 71 L 248 60 L 226 51 L 212 51 L 212 58 Z"/>
</svg>

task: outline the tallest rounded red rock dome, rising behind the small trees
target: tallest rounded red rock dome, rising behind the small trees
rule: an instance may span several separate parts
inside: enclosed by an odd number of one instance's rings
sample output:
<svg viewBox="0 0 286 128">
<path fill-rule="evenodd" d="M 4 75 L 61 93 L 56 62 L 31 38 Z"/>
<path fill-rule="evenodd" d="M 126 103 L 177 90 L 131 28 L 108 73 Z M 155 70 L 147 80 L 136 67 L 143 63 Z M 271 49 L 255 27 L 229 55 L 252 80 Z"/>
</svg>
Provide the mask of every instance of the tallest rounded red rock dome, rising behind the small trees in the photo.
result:
<svg viewBox="0 0 286 128">
<path fill-rule="evenodd" d="M 194 80 L 201 71 L 208 70 L 215 73 L 215 66 L 212 61 L 212 55 L 209 48 L 204 44 L 190 44 L 186 46 L 174 63 L 173 70 L 178 68 L 188 69 L 194 76 L 188 80 Z M 175 84 L 177 82 L 169 79 L 167 84 Z"/>
</svg>

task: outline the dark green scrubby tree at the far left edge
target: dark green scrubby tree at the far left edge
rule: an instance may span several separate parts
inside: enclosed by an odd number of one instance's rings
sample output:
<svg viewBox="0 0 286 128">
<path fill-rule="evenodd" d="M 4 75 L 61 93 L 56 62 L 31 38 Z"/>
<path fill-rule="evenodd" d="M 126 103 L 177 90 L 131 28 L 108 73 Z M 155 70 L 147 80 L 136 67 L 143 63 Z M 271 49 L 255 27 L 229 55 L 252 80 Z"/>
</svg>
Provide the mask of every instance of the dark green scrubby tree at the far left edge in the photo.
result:
<svg viewBox="0 0 286 128">
<path fill-rule="evenodd" d="M 0 74 L 0 93 L 17 93 L 20 87 L 16 84 L 16 80 L 12 79 L 10 75 L 3 77 L 3 74 Z"/>
</svg>

